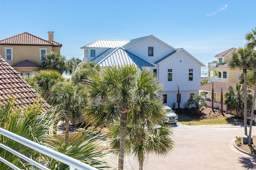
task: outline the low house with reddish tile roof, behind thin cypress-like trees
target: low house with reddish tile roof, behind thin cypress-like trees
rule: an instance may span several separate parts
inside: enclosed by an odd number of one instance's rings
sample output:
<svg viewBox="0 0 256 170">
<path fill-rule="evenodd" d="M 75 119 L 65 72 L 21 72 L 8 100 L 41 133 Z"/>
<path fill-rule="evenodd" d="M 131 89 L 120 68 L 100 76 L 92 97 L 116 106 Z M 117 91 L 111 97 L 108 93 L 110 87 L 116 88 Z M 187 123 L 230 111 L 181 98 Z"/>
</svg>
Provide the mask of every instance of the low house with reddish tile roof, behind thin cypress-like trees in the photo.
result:
<svg viewBox="0 0 256 170">
<path fill-rule="evenodd" d="M 227 83 L 227 82 L 210 82 L 207 84 L 201 85 L 201 90 L 199 90 L 201 95 L 204 95 L 206 98 L 206 101 L 210 102 L 208 103 L 208 106 L 212 106 L 212 84 L 213 84 L 213 92 L 214 92 L 214 108 L 220 109 L 220 99 L 221 99 L 221 88 L 222 88 L 222 94 L 223 94 L 223 102 L 226 100 L 224 94 L 228 92 L 228 86 L 232 86 L 234 90 L 236 90 L 236 83 Z M 254 95 L 254 88 L 247 86 L 247 89 L 250 89 L 252 92 L 252 95 Z M 254 110 L 256 110 L 256 105 L 254 107 Z M 226 111 L 224 109 L 224 111 Z"/>
</svg>

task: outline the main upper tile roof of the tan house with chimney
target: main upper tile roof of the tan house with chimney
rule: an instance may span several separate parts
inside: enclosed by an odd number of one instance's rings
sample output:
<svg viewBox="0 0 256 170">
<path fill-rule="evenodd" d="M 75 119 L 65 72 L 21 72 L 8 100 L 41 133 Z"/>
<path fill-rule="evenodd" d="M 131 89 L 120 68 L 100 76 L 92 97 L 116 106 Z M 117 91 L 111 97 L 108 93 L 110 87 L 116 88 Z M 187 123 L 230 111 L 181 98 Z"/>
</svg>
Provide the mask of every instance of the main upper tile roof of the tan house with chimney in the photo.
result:
<svg viewBox="0 0 256 170">
<path fill-rule="evenodd" d="M 43 46 L 57 46 L 62 47 L 62 44 L 55 41 L 48 41 L 36 37 L 30 33 L 24 32 L 12 37 L 0 40 L 2 45 L 43 45 Z"/>
</svg>

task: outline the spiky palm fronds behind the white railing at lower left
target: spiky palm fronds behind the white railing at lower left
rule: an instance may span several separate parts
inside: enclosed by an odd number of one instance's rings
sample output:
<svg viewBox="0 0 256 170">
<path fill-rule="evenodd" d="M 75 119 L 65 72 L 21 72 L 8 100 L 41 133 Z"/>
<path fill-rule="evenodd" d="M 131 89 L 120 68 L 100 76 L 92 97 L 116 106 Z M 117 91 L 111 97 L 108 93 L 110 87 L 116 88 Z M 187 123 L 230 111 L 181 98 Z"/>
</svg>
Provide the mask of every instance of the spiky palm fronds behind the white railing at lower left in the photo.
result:
<svg viewBox="0 0 256 170">
<path fill-rule="evenodd" d="M 61 118 L 58 111 L 42 112 L 43 104 L 39 103 L 39 100 L 36 100 L 36 102 L 30 107 L 14 110 L 14 101 L 15 99 L 0 102 L 1 128 L 34 141 L 35 143 L 66 154 L 72 158 L 78 159 L 86 164 L 94 166 L 95 168 L 107 167 L 106 161 L 104 160 L 106 152 L 98 150 L 100 142 L 95 137 L 93 138 L 97 131 L 87 131 L 76 142 L 71 140 L 66 144 L 57 143 L 56 139 L 52 137 L 52 132 L 54 131 L 52 124 Z M 26 147 L 3 135 L 0 135 L 0 143 L 18 151 L 32 160 L 39 163 L 45 163 L 44 166 L 51 170 L 68 168 L 68 165 L 49 158 L 40 152 L 31 150 L 29 147 Z M 20 159 L 18 156 L 5 149 L 1 149 L 0 156 L 20 169 L 34 169 L 29 162 Z M 10 167 L 3 162 L 0 162 L 0 167 L 2 170 L 10 169 Z"/>
</svg>

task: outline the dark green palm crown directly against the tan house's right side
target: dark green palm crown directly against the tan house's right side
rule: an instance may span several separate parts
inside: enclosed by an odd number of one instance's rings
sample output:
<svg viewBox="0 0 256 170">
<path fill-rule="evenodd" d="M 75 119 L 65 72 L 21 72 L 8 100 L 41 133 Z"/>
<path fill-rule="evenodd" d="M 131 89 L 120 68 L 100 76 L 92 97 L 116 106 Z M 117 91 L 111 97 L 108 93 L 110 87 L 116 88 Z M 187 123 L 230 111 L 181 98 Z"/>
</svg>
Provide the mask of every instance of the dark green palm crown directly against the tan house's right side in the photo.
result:
<svg viewBox="0 0 256 170">
<path fill-rule="evenodd" d="M 66 57 L 60 55 L 60 53 L 50 52 L 47 53 L 42 61 L 42 69 L 44 70 L 57 70 L 60 74 L 64 71 L 68 74 L 74 72 L 74 64 L 71 61 L 67 61 Z"/>
</svg>

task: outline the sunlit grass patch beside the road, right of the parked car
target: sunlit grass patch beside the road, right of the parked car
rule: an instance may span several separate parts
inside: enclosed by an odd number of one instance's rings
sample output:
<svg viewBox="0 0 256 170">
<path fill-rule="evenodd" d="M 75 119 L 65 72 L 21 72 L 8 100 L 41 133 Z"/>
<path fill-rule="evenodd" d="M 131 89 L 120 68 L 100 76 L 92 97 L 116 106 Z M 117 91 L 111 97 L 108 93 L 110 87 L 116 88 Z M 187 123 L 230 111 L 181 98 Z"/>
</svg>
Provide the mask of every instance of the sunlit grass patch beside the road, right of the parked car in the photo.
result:
<svg viewBox="0 0 256 170">
<path fill-rule="evenodd" d="M 222 117 L 218 119 L 191 119 L 186 115 L 179 115 L 179 122 L 184 125 L 224 125 L 234 122 L 244 122 L 242 119 L 235 117 Z"/>
</svg>

